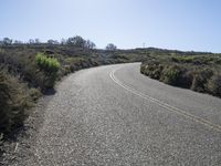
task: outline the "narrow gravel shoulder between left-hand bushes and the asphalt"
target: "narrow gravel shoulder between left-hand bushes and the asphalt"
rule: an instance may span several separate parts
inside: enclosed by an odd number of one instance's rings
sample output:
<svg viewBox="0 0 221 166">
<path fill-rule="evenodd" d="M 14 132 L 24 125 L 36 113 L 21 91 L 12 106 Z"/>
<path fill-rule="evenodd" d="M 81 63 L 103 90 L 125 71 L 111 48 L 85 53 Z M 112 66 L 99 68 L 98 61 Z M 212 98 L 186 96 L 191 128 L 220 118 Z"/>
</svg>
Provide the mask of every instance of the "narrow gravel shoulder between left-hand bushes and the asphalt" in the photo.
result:
<svg viewBox="0 0 221 166">
<path fill-rule="evenodd" d="M 3 143 L 4 153 L 0 165 L 18 165 L 21 160 L 34 155 L 31 145 L 36 141 L 36 135 L 44 121 L 45 107 L 52 97 L 52 95 L 42 96 L 30 110 L 31 114 L 18 136 Z"/>
</svg>

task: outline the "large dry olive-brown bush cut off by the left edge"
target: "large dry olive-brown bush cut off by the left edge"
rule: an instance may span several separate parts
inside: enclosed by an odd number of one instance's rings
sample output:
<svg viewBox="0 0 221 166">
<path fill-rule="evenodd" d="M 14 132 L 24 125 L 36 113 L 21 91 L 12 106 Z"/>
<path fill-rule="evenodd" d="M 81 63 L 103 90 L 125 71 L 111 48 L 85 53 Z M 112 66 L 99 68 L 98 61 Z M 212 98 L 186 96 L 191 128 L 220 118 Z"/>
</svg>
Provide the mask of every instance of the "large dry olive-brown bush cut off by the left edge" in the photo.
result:
<svg viewBox="0 0 221 166">
<path fill-rule="evenodd" d="M 0 133 L 9 133 L 12 128 L 21 126 L 27 117 L 25 108 L 29 106 L 29 91 L 25 85 L 0 72 Z"/>
</svg>

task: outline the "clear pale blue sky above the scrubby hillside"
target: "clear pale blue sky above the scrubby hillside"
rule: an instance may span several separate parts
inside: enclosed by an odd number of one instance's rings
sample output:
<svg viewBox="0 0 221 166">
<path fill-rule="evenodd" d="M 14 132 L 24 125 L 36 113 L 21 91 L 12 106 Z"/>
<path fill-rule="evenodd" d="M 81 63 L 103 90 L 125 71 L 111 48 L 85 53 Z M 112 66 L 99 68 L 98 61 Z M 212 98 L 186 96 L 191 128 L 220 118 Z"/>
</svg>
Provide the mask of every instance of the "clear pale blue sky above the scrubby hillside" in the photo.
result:
<svg viewBox="0 0 221 166">
<path fill-rule="evenodd" d="M 221 0 L 1 0 L 0 38 L 221 52 Z"/>
</svg>

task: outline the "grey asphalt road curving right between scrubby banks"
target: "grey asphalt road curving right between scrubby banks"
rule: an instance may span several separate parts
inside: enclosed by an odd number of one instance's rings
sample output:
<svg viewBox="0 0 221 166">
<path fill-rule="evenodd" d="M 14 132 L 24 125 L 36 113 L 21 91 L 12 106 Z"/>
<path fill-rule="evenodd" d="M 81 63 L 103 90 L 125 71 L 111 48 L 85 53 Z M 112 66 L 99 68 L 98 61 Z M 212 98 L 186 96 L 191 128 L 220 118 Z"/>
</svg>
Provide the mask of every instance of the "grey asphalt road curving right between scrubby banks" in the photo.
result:
<svg viewBox="0 0 221 166">
<path fill-rule="evenodd" d="M 23 165 L 221 165 L 221 100 L 150 80 L 139 65 L 66 77 Z"/>
</svg>

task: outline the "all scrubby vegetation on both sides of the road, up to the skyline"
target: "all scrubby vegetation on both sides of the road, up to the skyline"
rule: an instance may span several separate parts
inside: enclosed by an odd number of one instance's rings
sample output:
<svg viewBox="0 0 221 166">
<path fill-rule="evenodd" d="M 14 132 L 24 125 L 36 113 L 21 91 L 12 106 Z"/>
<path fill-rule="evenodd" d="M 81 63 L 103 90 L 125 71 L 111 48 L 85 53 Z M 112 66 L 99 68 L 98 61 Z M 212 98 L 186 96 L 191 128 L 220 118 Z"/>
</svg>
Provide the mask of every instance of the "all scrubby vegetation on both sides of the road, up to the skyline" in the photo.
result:
<svg viewBox="0 0 221 166">
<path fill-rule="evenodd" d="M 64 75 L 103 64 L 143 62 L 140 72 L 167 84 L 221 96 L 221 55 L 161 49 L 105 50 L 82 37 L 0 41 L 0 144 L 23 126 L 41 95 Z"/>
</svg>

